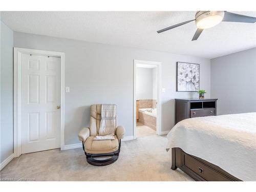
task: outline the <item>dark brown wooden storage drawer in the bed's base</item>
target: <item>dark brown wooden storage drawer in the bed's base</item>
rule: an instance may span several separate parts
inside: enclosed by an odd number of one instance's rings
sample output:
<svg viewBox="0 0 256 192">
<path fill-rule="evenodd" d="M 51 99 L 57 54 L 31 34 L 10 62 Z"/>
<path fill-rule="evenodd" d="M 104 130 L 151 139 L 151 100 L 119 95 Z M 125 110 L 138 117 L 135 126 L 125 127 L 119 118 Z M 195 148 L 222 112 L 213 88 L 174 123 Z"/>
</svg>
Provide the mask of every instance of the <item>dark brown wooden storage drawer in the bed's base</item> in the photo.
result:
<svg viewBox="0 0 256 192">
<path fill-rule="evenodd" d="M 184 165 L 206 181 L 230 181 L 227 177 L 217 172 L 217 170 L 187 154 L 184 154 Z"/>
</svg>

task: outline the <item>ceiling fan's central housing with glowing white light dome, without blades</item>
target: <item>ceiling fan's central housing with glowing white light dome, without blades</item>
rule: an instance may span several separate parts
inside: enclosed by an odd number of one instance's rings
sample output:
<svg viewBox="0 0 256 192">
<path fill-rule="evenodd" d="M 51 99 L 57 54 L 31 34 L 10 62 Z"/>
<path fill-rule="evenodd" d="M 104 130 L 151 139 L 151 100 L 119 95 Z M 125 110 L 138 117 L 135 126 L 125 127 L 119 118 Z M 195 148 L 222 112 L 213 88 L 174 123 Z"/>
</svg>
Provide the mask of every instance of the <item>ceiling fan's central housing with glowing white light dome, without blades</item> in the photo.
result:
<svg viewBox="0 0 256 192">
<path fill-rule="evenodd" d="M 207 29 L 219 24 L 223 17 L 224 11 L 198 11 L 196 13 L 196 25 L 200 29 Z"/>
</svg>

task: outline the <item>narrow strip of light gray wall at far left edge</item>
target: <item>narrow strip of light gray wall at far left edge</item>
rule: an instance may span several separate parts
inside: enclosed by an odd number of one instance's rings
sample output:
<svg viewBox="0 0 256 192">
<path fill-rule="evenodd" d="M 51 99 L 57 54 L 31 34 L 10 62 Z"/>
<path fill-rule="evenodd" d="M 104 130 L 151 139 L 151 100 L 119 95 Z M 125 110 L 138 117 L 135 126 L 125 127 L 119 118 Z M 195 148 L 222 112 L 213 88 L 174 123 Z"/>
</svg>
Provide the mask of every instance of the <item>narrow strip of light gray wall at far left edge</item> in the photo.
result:
<svg viewBox="0 0 256 192">
<path fill-rule="evenodd" d="M 1 22 L 1 162 L 13 153 L 13 31 Z"/>
</svg>

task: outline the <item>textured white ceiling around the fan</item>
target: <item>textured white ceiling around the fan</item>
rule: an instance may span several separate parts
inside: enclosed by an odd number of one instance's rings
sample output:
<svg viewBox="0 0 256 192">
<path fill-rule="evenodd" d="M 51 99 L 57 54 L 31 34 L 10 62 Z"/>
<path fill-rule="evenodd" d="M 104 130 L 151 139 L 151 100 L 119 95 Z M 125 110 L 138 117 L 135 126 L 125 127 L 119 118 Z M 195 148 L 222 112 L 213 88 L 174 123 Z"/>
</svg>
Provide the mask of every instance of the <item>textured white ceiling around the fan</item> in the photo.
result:
<svg viewBox="0 0 256 192">
<path fill-rule="evenodd" d="M 230 11 L 234 12 L 234 11 Z M 187 12 L 1 12 L 12 30 L 100 42 L 131 48 L 215 58 L 256 47 L 256 24 L 228 23 L 205 29 L 191 41 L 195 22 L 158 34 L 156 31 L 194 19 Z M 256 12 L 235 12 L 256 17 Z"/>
</svg>

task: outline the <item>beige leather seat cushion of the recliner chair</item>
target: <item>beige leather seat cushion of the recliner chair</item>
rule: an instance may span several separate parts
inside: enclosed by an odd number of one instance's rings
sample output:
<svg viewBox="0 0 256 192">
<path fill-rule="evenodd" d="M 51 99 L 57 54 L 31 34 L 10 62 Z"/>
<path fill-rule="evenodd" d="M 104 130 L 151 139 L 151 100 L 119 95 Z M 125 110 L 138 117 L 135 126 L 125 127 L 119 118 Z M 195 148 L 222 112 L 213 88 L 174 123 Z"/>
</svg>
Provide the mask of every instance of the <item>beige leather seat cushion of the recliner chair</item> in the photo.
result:
<svg viewBox="0 0 256 192">
<path fill-rule="evenodd" d="M 91 154 L 112 153 L 118 150 L 119 143 L 117 136 L 114 140 L 100 140 L 95 141 L 94 136 L 90 136 L 84 142 L 84 151 Z"/>
</svg>

